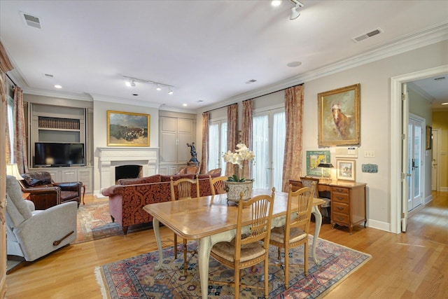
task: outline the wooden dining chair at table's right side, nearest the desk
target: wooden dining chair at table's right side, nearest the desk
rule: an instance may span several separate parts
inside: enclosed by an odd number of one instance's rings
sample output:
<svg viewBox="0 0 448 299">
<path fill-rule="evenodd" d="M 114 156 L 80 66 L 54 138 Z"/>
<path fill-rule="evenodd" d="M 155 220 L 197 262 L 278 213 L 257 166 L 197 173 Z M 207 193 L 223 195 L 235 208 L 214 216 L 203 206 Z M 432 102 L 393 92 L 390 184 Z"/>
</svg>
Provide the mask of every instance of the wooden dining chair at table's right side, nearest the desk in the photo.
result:
<svg viewBox="0 0 448 299">
<path fill-rule="evenodd" d="M 309 187 L 303 187 L 293 192 L 292 186 L 289 186 L 288 206 L 286 208 L 285 225 L 273 228 L 271 230 L 271 238 L 269 243 L 279 248 L 279 260 L 281 260 L 280 251 L 284 249 L 284 267 L 285 271 L 285 288 L 288 288 L 289 277 L 289 249 L 300 245 L 304 245 L 304 273 L 308 275 L 308 230 L 311 220 L 311 208 L 313 202 L 314 189 L 316 182 L 314 181 Z M 297 212 L 293 212 L 297 204 Z M 295 208 L 294 208 L 295 209 Z"/>
</svg>

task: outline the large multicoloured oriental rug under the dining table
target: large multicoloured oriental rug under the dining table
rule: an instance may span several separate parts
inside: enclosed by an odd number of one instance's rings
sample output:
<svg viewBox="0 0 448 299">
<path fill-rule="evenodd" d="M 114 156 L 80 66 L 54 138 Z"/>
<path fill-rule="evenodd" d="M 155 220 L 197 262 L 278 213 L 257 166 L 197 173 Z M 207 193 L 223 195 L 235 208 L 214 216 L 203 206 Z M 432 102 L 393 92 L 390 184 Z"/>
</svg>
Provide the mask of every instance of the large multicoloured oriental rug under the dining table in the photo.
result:
<svg viewBox="0 0 448 299">
<path fill-rule="evenodd" d="M 309 240 L 311 252 L 312 237 Z M 180 248 L 182 245 L 179 245 Z M 194 249 L 196 242 L 189 242 Z M 309 274 L 304 276 L 302 267 L 289 267 L 290 288 L 284 287 L 283 268 L 276 263 L 277 249 L 269 247 L 269 298 L 321 298 L 346 277 L 364 265 L 372 256 L 349 249 L 324 239 L 318 239 L 316 254 L 319 265 L 309 256 Z M 158 251 L 145 253 L 134 258 L 119 260 L 97 267 L 97 280 L 104 298 L 200 298 L 200 277 L 197 254 L 188 256 L 188 275 L 183 276 L 183 256 L 174 259 L 174 249 L 163 250 L 162 270 L 155 270 Z M 290 263 L 303 263 L 303 246 L 290 251 Z M 209 278 L 217 281 L 233 281 L 234 272 L 221 265 L 214 258 L 209 260 Z M 262 264 L 244 270 L 241 281 L 244 284 L 262 286 Z M 209 298 L 233 298 L 234 288 L 209 283 Z M 262 298 L 262 291 L 243 288 L 241 298 Z"/>
</svg>

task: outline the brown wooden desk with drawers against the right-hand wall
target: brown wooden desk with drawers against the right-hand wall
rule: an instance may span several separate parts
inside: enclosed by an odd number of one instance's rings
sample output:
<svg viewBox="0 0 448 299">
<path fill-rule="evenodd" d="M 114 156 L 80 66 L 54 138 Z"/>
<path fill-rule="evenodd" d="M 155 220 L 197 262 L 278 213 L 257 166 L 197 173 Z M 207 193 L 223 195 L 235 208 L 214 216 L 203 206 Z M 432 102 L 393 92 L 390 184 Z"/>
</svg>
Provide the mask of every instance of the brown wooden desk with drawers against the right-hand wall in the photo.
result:
<svg viewBox="0 0 448 299">
<path fill-rule="evenodd" d="M 300 181 L 290 180 L 289 183 L 293 185 L 293 190 L 302 187 L 302 182 Z M 364 222 L 365 228 L 367 223 L 365 211 L 366 185 L 366 183 L 351 181 L 336 181 L 334 183 L 319 181 L 319 196 L 323 191 L 330 191 L 332 228 L 335 228 L 336 224 L 347 226 L 350 230 L 350 235 L 353 225 Z"/>
</svg>

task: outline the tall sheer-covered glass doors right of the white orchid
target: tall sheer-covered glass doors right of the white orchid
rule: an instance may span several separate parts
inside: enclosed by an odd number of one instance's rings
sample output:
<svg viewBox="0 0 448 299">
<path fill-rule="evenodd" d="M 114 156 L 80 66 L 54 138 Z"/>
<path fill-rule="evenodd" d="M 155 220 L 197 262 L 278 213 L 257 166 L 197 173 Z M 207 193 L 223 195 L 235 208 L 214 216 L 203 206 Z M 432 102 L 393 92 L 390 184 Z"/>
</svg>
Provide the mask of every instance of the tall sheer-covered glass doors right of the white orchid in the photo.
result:
<svg viewBox="0 0 448 299">
<path fill-rule="evenodd" d="M 281 190 L 285 151 L 285 111 L 273 109 L 253 115 L 253 188 Z"/>
</svg>

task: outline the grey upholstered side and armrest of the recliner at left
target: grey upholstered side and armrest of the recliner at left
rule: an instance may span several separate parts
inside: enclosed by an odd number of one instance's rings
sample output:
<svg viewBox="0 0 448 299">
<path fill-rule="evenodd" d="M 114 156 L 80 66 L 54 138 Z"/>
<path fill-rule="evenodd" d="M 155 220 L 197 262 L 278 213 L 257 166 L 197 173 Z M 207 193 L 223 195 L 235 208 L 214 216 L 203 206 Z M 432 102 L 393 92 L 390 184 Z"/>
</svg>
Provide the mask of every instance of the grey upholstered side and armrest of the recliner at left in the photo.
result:
<svg viewBox="0 0 448 299">
<path fill-rule="evenodd" d="M 40 211 L 20 223 L 14 230 L 25 259 L 35 260 L 76 239 L 76 214 L 78 204 L 66 202 Z M 57 246 L 53 242 L 62 239 Z"/>
</svg>

